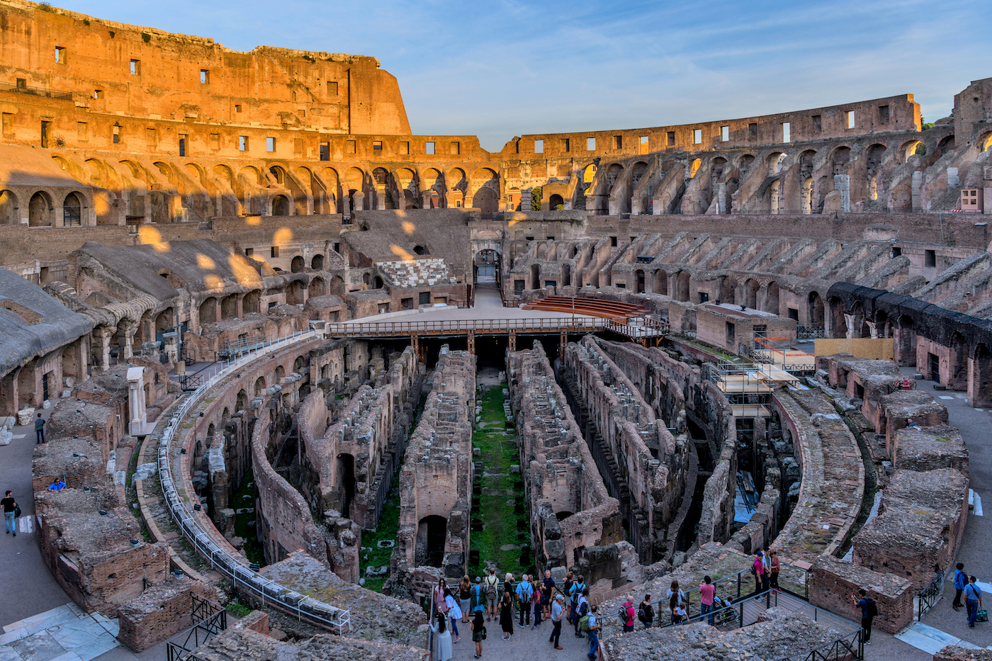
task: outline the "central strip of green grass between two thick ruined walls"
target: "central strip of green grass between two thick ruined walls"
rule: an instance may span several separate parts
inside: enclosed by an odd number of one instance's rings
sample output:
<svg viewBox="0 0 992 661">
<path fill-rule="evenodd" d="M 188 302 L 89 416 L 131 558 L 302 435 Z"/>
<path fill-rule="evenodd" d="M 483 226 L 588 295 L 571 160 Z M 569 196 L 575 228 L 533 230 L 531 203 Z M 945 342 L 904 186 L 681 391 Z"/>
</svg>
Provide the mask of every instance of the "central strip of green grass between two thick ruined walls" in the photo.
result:
<svg viewBox="0 0 992 661">
<path fill-rule="evenodd" d="M 484 388 L 479 404 L 481 422 L 472 434 L 472 446 L 479 449 L 477 461 L 482 463 L 483 476 L 476 482 L 481 494 L 477 494 L 479 506 L 472 508 L 470 532 L 470 551 L 478 552 L 479 562 L 471 562 L 470 553 L 469 574 L 474 580 L 487 566 L 495 565 L 501 575 L 513 572 L 519 579 L 524 572 L 533 572 L 533 559 L 524 483 L 520 474 L 510 472 L 520 457 L 516 437 L 504 430 L 502 386 Z M 480 522 L 482 530 L 477 529 Z"/>
</svg>

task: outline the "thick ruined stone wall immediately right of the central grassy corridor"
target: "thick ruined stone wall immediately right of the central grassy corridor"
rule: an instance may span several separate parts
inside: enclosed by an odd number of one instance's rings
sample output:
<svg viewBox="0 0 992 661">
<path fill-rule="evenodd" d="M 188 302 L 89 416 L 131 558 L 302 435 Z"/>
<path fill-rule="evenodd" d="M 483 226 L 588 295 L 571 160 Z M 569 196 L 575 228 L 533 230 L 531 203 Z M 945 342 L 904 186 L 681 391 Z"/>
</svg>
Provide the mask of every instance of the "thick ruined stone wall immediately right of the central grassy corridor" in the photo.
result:
<svg viewBox="0 0 992 661">
<path fill-rule="evenodd" d="M 619 578 L 618 556 L 615 564 L 607 556 L 623 539 L 620 503 L 606 491 L 540 342 L 509 352 L 507 370 L 524 485 L 539 515 L 532 520 L 538 567 L 578 566 L 590 586 Z"/>
</svg>

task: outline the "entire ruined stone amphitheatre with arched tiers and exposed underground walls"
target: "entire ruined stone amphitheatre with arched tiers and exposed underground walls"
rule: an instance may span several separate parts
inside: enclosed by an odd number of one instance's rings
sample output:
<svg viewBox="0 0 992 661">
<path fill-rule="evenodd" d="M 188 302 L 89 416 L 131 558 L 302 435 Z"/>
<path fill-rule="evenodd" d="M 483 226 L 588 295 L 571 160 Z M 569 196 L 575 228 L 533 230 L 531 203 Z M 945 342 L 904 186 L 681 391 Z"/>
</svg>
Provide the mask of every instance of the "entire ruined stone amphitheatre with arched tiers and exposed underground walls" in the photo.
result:
<svg viewBox="0 0 992 661">
<path fill-rule="evenodd" d="M 952 590 L 992 78 L 927 127 L 902 94 L 487 152 L 375 58 L 0 16 L 0 455 L 119 644 L 236 604 L 196 658 L 434 659 L 438 580 L 574 571 L 603 659 L 861 659 L 853 591 L 897 633 Z M 729 624 L 611 621 L 703 574 Z"/>
</svg>

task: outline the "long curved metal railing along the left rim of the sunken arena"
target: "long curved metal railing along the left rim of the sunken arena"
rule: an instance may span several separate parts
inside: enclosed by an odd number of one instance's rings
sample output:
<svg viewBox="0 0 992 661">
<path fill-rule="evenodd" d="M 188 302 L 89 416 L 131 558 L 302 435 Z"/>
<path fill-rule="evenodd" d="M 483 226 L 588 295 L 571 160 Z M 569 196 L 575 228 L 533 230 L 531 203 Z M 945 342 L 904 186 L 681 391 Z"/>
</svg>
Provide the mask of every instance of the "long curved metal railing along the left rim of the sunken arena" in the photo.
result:
<svg viewBox="0 0 992 661">
<path fill-rule="evenodd" d="M 162 493 L 180 532 L 192 545 L 196 552 L 209 564 L 211 569 L 220 572 L 229 579 L 235 590 L 252 595 L 259 599 L 263 606 L 272 605 L 284 612 L 295 614 L 297 619 L 307 619 L 310 622 L 329 628 L 340 633 L 344 627 L 351 630 L 351 613 L 344 608 L 318 601 L 310 596 L 300 595 L 284 588 L 275 581 L 262 577 L 258 572 L 242 564 L 247 562 L 243 557 L 235 557 L 222 548 L 214 538 L 197 521 L 186 503 L 186 496 L 181 495 L 177 488 L 178 479 L 173 472 L 173 459 L 179 456 L 179 450 L 173 449 L 183 422 L 197 406 L 210 389 L 220 380 L 229 376 L 233 371 L 247 366 L 257 359 L 260 354 L 271 353 L 291 344 L 317 337 L 313 331 L 299 331 L 292 335 L 268 340 L 262 346 L 255 347 L 234 360 L 224 360 L 220 369 L 205 379 L 203 384 L 190 393 L 186 401 L 180 405 L 177 413 L 170 420 L 159 445 L 159 473 L 161 475 Z"/>
</svg>

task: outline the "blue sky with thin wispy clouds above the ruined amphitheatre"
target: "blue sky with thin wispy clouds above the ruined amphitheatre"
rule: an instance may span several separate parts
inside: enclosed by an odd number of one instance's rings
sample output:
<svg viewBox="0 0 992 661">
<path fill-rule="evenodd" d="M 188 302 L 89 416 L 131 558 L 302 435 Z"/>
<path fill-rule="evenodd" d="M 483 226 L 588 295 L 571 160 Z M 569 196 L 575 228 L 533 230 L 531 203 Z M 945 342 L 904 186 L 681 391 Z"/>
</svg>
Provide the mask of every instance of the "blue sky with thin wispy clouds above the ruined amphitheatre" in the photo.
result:
<svg viewBox="0 0 992 661">
<path fill-rule="evenodd" d="M 374 56 L 411 129 L 478 135 L 732 119 L 912 93 L 929 120 L 992 76 L 989 0 L 417 3 L 53 0 L 98 18 Z M 984 34 L 982 34 L 984 33 Z"/>
</svg>

